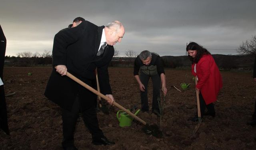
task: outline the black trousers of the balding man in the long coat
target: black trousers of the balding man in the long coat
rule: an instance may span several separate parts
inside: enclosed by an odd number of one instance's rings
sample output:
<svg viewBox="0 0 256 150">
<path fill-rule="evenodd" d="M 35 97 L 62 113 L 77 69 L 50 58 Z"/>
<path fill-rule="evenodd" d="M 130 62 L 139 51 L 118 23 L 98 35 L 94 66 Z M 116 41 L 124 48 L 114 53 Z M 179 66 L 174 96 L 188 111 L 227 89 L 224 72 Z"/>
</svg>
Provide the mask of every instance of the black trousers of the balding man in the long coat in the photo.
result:
<svg viewBox="0 0 256 150">
<path fill-rule="evenodd" d="M 95 102 L 94 102 L 95 98 L 94 98 L 94 95 L 90 95 L 90 94 L 88 94 L 88 98 L 86 99 L 81 99 L 80 96 L 78 95 L 72 106 L 71 111 L 62 109 L 62 121 L 63 121 L 62 146 L 63 147 L 70 147 L 74 145 L 74 131 L 76 128 L 76 122 L 79 116 L 79 112 L 81 112 L 82 114 L 84 124 L 92 134 L 93 140 L 98 140 L 104 136 L 98 124 L 98 118 L 97 118 L 97 114 L 95 110 Z M 86 101 L 86 108 L 81 109 L 80 107 L 81 101 Z"/>
</svg>

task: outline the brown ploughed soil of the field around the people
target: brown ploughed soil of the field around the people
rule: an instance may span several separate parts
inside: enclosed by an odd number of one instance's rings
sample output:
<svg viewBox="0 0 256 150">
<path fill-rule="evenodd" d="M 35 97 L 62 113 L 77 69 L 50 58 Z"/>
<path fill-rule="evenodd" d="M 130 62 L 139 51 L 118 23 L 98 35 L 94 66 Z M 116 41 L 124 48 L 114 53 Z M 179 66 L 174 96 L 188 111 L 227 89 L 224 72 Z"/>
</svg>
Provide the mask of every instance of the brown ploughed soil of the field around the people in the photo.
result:
<svg viewBox="0 0 256 150">
<path fill-rule="evenodd" d="M 62 118 L 60 107 L 44 96 L 44 89 L 52 71 L 51 67 L 5 67 L 5 94 L 10 136 L 0 130 L 1 150 L 61 150 Z M 189 119 L 196 114 L 195 84 L 190 70 L 166 68 L 164 112 L 160 117 L 149 112 L 137 116 L 148 124 L 162 128 L 162 138 L 147 135 L 144 125 L 136 120 L 132 126 L 119 126 L 118 108 L 109 107 L 109 115 L 98 112 L 100 128 L 111 146 L 91 144 L 91 135 L 78 118 L 75 146 L 79 150 L 245 150 L 256 148 L 256 127 L 246 125 L 254 111 L 256 83 L 252 72 L 221 71 L 223 88 L 215 102 L 216 116 L 204 116 L 196 134 L 196 124 Z M 28 73 L 32 73 L 28 74 Z M 133 68 L 109 68 L 110 84 L 116 102 L 125 108 L 140 108 L 139 86 L 133 76 Z M 186 75 L 187 74 L 187 75 Z M 182 90 L 180 83 L 191 83 Z M 187 84 L 188 84 L 187 83 Z M 182 92 L 179 92 L 176 86 Z M 152 83 L 148 87 L 152 106 Z M 161 98 L 163 101 L 163 97 Z M 133 110 L 133 113 L 136 110 Z"/>
</svg>

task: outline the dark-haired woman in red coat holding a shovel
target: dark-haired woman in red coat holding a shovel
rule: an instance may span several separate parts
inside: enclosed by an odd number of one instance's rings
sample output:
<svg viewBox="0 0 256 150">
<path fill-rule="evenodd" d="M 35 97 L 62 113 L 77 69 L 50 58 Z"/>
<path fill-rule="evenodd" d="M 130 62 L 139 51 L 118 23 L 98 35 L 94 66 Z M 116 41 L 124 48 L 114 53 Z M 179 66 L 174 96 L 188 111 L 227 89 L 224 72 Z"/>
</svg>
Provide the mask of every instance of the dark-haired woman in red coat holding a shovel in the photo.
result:
<svg viewBox="0 0 256 150">
<path fill-rule="evenodd" d="M 186 51 L 192 61 L 192 74 L 198 81 L 196 90 L 200 92 L 200 110 L 201 116 L 210 115 L 215 116 L 214 104 L 217 100 L 217 95 L 222 88 L 222 77 L 214 58 L 208 50 L 191 42 L 186 47 Z M 207 108 L 207 112 L 205 112 Z M 194 117 L 192 121 L 197 121 L 198 116 Z"/>
</svg>

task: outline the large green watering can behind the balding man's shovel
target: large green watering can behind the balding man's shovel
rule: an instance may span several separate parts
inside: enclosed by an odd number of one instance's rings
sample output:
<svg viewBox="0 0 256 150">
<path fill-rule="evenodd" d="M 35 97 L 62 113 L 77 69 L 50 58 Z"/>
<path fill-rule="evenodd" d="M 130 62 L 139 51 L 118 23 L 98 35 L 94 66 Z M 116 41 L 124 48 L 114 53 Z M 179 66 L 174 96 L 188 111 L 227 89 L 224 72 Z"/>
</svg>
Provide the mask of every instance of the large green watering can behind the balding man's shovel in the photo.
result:
<svg viewBox="0 0 256 150">
<path fill-rule="evenodd" d="M 130 110 L 129 110 L 130 111 Z M 140 109 L 135 112 L 135 116 L 140 112 Z M 119 126 L 124 127 L 124 126 L 131 126 L 132 125 L 132 120 L 134 119 L 132 116 L 124 112 L 123 110 L 119 110 L 116 113 L 116 118 L 119 121 Z"/>
</svg>

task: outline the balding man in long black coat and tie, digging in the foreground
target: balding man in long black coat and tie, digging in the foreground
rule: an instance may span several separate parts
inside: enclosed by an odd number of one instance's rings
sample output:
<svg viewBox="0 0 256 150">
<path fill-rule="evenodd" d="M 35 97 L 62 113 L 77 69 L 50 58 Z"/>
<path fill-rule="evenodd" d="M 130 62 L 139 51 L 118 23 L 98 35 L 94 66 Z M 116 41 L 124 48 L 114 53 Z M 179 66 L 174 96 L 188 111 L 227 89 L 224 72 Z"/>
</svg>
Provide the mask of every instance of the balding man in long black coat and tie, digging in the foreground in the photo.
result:
<svg viewBox="0 0 256 150">
<path fill-rule="evenodd" d="M 76 149 L 74 130 L 78 113 L 92 134 L 96 145 L 114 144 L 100 130 L 95 110 L 96 95 L 68 78 L 67 71 L 88 84 L 95 81 L 94 70 L 98 70 L 100 91 L 114 102 L 109 84 L 108 64 L 114 55 L 113 45 L 121 42 L 124 26 L 113 21 L 106 26 L 96 26 L 88 21 L 81 22 L 76 28 L 58 32 L 54 37 L 52 50 L 53 71 L 45 90 L 45 96 L 62 108 L 62 129 L 64 149 Z M 104 49 L 102 51 L 102 45 Z"/>
</svg>

